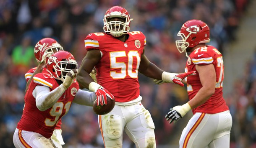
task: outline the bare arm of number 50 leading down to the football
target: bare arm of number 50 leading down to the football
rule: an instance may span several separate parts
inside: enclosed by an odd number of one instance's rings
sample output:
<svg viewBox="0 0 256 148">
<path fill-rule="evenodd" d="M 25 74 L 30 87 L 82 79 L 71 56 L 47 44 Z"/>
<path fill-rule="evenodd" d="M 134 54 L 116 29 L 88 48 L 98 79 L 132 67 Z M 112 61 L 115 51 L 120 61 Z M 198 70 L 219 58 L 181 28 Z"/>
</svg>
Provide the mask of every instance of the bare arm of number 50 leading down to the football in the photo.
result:
<svg viewBox="0 0 256 148">
<path fill-rule="evenodd" d="M 89 84 L 94 82 L 90 73 L 94 66 L 99 62 L 101 58 L 99 50 L 89 50 L 84 57 L 77 74 L 77 81 L 81 89 L 89 88 Z"/>
</svg>

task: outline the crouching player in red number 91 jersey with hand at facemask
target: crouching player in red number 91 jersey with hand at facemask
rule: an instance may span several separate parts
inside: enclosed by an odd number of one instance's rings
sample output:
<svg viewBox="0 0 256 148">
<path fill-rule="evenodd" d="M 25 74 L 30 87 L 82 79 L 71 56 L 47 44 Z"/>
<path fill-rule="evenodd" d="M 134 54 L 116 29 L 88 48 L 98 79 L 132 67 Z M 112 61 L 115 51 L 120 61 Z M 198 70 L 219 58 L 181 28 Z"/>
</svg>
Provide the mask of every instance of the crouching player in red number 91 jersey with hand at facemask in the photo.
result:
<svg viewBox="0 0 256 148">
<path fill-rule="evenodd" d="M 51 138 L 57 122 L 72 102 L 92 106 L 96 100 L 94 92 L 79 89 L 77 63 L 68 51 L 52 54 L 46 70 L 33 77 L 24 97 L 23 114 L 13 135 L 16 148 L 61 148 Z"/>
</svg>

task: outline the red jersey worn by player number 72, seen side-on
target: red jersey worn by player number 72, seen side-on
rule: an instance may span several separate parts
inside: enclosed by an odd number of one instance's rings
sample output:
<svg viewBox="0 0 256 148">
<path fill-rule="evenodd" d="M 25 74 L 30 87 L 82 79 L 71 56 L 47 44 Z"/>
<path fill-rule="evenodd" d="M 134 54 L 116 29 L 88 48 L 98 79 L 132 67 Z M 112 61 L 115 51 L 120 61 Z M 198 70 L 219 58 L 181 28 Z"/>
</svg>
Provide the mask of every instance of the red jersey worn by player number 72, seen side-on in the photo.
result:
<svg viewBox="0 0 256 148">
<path fill-rule="evenodd" d="M 203 105 L 200 105 L 199 107 L 193 109 L 193 113 L 204 112 L 214 114 L 229 110 L 222 95 L 222 83 L 224 79 L 224 64 L 222 54 L 213 46 L 197 48 L 189 55 L 185 72 L 196 71 L 196 64 L 214 65 L 216 71 L 216 85 L 215 93 Z M 186 78 L 189 100 L 193 99 L 193 97 L 202 87 L 202 84 L 199 79 L 199 74 L 197 71 L 196 73 L 196 75 L 189 76 Z"/>
</svg>

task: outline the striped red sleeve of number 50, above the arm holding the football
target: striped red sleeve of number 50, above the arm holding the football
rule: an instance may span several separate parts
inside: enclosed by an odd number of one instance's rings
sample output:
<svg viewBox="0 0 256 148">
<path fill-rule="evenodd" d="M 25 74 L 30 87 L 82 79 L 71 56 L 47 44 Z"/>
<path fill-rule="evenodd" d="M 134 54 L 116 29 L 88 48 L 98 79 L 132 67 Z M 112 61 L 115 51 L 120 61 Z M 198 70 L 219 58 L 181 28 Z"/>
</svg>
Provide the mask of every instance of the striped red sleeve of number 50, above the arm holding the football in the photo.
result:
<svg viewBox="0 0 256 148">
<path fill-rule="evenodd" d="M 84 39 L 84 46 L 87 51 L 92 49 L 99 48 L 99 41 L 97 39 L 97 34 L 104 35 L 104 33 L 90 33 L 86 38 Z"/>
</svg>

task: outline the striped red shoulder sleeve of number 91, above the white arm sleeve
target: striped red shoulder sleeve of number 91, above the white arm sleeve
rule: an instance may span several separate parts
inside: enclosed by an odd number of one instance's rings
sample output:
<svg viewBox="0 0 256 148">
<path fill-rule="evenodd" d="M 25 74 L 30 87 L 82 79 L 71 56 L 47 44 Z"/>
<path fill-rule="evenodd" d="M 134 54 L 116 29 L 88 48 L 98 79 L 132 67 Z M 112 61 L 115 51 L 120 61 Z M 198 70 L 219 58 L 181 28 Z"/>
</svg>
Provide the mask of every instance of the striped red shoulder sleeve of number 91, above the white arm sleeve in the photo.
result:
<svg viewBox="0 0 256 148">
<path fill-rule="evenodd" d="M 51 89 L 54 84 L 54 81 L 54 78 L 52 78 L 49 74 L 46 73 L 39 73 L 33 77 L 33 82 L 36 85 L 50 87 Z"/>
</svg>

